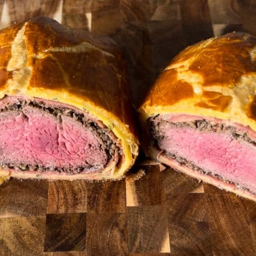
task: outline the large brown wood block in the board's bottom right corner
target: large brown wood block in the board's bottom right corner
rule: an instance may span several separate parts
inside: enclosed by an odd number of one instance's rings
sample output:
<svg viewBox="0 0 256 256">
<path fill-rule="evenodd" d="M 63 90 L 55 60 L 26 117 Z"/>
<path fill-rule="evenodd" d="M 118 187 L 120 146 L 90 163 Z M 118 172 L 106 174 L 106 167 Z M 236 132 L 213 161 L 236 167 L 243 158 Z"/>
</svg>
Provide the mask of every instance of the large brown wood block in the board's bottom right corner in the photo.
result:
<svg viewBox="0 0 256 256">
<path fill-rule="evenodd" d="M 214 254 L 255 255 L 255 203 L 223 190 L 206 202 Z"/>
</svg>

